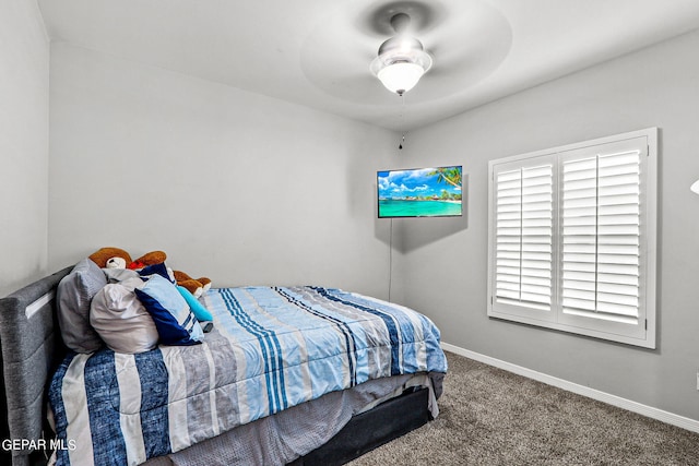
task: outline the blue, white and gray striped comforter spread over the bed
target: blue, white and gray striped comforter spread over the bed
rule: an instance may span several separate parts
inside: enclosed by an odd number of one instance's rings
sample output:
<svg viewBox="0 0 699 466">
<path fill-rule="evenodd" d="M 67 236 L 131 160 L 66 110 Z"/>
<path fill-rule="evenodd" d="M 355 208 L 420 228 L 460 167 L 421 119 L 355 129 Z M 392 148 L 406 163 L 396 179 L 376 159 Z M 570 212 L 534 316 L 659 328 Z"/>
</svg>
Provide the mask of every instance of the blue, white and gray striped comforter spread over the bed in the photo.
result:
<svg viewBox="0 0 699 466">
<path fill-rule="evenodd" d="M 401 306 L 319 287 L 203 300 L 202 345 L 66 358 L 49 391 L 59 465 L 139 464 L 370 379 L 447 371 L 438 328 Z"/>
</svg>

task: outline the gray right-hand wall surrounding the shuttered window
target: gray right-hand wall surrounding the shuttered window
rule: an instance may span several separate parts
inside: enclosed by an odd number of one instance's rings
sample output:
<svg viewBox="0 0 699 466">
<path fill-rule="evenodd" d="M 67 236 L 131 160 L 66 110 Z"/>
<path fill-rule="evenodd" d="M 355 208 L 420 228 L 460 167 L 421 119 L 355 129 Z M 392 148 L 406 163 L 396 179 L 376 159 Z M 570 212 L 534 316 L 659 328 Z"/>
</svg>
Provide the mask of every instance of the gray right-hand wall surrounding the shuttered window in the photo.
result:
<svg viewBox="0 0 699 466">
<path fill-rule="evenodd" d="M 412 133 L 400 165 L 463 164 L 469 212 L 401 222 L 398 296 L 447 343 L 699 419 L 697 50 L 699 34 L 685 35 Z M 488 160 L 649 127 L 660 128 L 657 349 L 489 320 Z"/>
</svg>

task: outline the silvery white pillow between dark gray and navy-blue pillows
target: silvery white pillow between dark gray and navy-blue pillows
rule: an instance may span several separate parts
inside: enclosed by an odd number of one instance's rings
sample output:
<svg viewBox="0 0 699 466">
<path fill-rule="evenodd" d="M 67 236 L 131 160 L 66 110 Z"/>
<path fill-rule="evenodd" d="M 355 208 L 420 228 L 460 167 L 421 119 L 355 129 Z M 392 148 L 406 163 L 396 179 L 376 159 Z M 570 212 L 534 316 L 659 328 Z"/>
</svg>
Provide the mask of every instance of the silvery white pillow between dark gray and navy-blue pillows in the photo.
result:
<svg viewBox="0 0 699 466">
<path fill-rule="evenodd" d="M 142 285 L 141 278 L 108 284 L 92 300 L 90 323 L 117 353 L 143 353 L 157 346 L 158 334 L 153 318 L 133 291 Z"/>
</svg>

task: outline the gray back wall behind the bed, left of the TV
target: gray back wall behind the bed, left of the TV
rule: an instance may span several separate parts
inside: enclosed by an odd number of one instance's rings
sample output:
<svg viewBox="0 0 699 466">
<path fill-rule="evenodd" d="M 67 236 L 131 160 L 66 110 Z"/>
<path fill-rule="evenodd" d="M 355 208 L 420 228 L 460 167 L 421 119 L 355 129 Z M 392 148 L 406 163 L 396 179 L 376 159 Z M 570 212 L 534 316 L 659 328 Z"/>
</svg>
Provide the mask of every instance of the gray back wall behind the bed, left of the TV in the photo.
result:
<svg viewBox="0 0 699 466">
<path fill-rule="evenodd" d="M 374 192 L 392 132 L 66 44 L 50 124 L 51 268 L 159 249 L 214 286 L 387 295 Z"/>
</svg>

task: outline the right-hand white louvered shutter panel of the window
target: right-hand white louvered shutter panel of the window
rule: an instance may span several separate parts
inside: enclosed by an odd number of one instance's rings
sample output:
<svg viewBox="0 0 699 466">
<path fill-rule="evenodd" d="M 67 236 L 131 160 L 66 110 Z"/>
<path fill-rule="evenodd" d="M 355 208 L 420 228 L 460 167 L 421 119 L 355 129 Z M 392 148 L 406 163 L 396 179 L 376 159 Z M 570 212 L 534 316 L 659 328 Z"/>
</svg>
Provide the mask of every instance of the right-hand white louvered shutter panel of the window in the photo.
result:
<svg viewBox="0 0 699 466">
<path fill-rule="evenodd" d="M 640 152 L 562 166 L 562 312 L 638 324 Z"/>
</svg>

